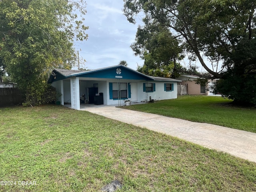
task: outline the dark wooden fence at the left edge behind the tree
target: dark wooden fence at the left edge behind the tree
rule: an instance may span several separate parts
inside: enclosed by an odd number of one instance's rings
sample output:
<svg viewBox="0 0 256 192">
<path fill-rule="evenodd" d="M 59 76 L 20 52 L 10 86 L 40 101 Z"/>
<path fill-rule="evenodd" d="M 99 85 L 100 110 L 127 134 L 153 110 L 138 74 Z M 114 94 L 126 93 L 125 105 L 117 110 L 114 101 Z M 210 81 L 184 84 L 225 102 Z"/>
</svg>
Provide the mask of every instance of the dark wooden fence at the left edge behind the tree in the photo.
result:
<svg viewBox="0 0 256 192">
<path fill-rule="evenodd" d="M 0 88 L 0 106 L 9 106 L 22 103 L 24 97 L 18 88 Z"/>
</svg>

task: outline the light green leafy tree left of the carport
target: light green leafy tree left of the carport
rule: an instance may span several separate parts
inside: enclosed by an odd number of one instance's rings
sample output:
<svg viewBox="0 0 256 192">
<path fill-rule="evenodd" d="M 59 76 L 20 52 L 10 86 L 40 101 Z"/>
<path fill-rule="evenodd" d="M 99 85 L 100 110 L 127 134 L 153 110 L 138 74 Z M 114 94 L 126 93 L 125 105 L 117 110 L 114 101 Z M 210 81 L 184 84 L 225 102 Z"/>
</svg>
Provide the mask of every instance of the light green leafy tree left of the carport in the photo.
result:
<svg viewBox="0 0 256 192">
<path fill-rule="evenodd" d="M 88 28 L 78 15 L 85 3 L 69 0 L 0 1 L 0 58 L 6 72 L 26 93 L 26 103 L 41 103 L 53 68 L 71 68 L 73 40 Z M 38 96 L 39 95 L 39 96 Z"/>
</svg>

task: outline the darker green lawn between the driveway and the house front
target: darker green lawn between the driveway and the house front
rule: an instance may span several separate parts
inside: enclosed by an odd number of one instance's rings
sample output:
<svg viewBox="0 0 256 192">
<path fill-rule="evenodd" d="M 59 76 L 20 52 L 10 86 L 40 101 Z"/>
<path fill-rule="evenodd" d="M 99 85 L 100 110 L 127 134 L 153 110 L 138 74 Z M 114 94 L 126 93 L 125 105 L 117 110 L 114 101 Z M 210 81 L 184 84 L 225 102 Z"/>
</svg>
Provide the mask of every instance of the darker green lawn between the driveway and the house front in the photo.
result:
<svg viewBox="0 0 256 192">
<path fill-rule="evenodd" d="M 256 133 L 256 108 L 234 107 L 231 103 L 218 96 L 180 96 L 122 108 Z"/>
</svg>

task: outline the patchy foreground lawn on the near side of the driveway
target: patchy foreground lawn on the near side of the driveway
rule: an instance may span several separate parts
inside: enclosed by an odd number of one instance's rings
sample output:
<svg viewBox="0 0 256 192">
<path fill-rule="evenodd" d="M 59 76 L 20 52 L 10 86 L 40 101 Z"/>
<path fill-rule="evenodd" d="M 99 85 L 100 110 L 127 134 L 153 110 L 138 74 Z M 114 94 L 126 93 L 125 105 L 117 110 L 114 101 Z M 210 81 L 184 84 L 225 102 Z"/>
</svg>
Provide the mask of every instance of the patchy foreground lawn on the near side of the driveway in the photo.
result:
<svg viewBox="0 0 256 192">
<path fill-rule="evenodd" d="M 0 114 L 1 192 L 256 191 L 256 163 L 172 136 L 63 106 Z"/>
</svg>

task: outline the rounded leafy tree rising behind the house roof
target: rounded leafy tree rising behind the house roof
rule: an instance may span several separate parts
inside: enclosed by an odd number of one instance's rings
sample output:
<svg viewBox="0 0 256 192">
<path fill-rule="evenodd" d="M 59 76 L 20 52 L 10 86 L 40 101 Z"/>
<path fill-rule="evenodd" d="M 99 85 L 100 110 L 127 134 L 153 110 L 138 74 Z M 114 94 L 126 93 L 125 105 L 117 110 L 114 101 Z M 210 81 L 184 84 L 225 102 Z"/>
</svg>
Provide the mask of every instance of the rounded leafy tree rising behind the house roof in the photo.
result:
<svg viewBox="0 0 256 192">
<path fill-rule="evenodd" d="M 158 21 L 144 18 L 144 26 L 139 26 L 136 42 L 131 45 L 135 55 L 144 59 L 144 65 L 138 71 L 151 76 L 174 78 L 180 69 L 176 60 L 182 58 L 182 48 L 178 39 L 172 36 L 169 29 Z"/>
</svg>

